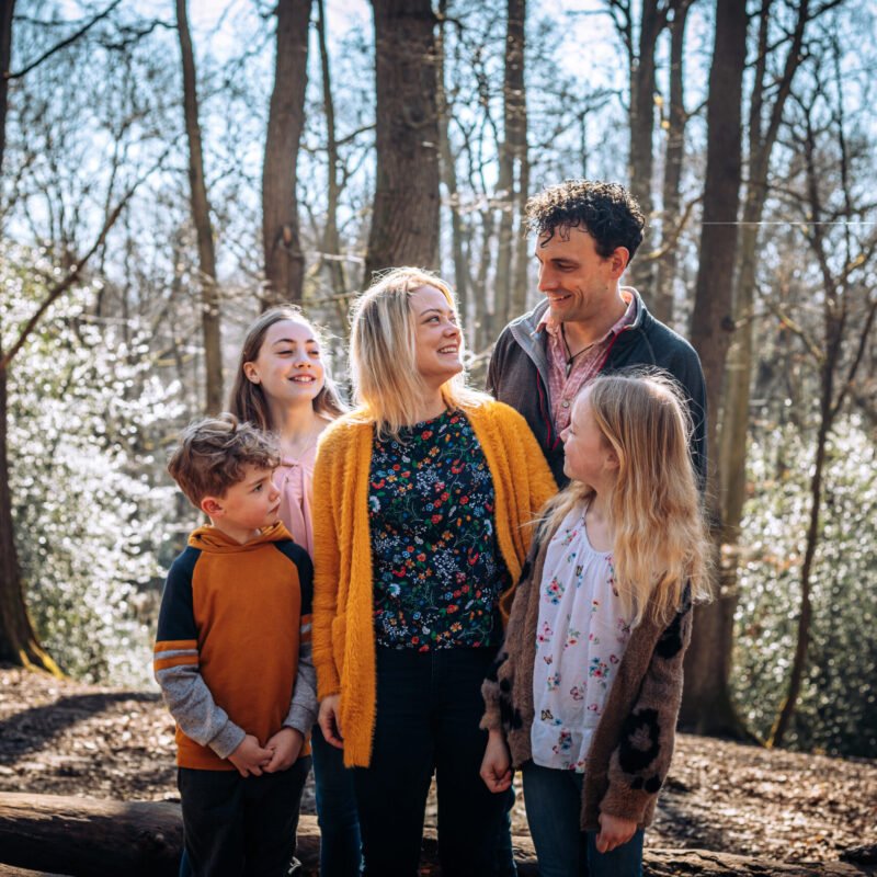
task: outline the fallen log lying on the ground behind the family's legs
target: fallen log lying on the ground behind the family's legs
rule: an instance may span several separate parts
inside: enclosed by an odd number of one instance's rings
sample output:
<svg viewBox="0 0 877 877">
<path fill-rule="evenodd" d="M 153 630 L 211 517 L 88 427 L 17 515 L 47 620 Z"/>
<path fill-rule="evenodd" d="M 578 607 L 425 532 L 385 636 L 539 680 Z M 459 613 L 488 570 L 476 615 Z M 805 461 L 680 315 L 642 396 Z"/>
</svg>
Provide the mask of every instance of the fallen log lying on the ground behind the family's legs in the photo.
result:
<svg viewBox="0 0 877 877">
<path fill-rule="evenodd" d="M 520 877 L 537 877 L 528 836 L 513 838 Z M 176 877 L 182 848 L 180 806 L 56 795 L 0 793 L 0 877 Z M 303 877 L 319 874 L 317 820 L 303 816 Z M 438 877 L 434 831 L 423 839 L 423 873 Z M 10 867 L 13 866 L 13 867 Z M 4 869 L 5 868 L 5 869 Z M 29 868 L 31 870 L 21 870 Z M 862 877 L 846 863 L 784 864 L 705 850 L 647 848 L 647 877 Z"/>
</svg>

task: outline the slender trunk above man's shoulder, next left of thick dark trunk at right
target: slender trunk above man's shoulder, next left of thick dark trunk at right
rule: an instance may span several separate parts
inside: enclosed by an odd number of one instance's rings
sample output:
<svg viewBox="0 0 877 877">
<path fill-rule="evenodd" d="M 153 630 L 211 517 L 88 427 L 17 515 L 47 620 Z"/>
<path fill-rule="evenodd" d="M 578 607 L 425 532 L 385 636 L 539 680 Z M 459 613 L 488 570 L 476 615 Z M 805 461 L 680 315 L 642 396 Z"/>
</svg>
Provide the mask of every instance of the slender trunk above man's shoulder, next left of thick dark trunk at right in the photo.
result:
<svg viewBox="0 0 877 877">
<path fill-rule="evenodd" d="M 673 286 L 676 280 L 679 247 L 672 238 L 681 221 L 680 181 L 685 157 L 685 25 L 693 0 L 679 0 L 670 23 L 670 106 L 667 116 L 667 149 L 664 152 L 663 210 L 661 219 L 661 249 L 654 286 L 651 293 L 652 312 L 661 322 L 673 321 Z"/>
</svg>

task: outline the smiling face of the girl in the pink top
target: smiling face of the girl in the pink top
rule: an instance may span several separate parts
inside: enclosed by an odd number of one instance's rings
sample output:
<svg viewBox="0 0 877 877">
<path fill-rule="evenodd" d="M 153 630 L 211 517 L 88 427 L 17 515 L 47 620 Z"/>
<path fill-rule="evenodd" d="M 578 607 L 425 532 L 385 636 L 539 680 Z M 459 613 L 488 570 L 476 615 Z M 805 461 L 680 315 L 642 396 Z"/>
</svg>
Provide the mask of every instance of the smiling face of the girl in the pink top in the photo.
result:
<svg viewBox="0 0 877 877">
<path fill-rule="evenodd" d="M 314 329 L 301 320 L 272 323 L 259 355 L 243 364 L 243 372 L 269 401 L 281 405 L 312 402 L 326 380 L 320 345 Z"/>
</svg>

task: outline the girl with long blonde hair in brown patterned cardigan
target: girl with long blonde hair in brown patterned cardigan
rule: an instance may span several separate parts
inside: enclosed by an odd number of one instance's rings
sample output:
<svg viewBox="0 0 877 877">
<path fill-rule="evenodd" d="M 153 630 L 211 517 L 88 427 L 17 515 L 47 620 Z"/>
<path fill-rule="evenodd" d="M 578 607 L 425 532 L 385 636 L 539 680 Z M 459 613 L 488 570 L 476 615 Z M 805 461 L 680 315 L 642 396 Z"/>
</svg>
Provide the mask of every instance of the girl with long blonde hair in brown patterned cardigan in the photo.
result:
<svg viewBox="0 0 877 877">
<path fill-rule="evenodd" d="M 481 776 L 499 793 L 523 768 L 543 877 L 641 874 L 692 603 L 708 593 L 688 432 L 669 379 L 610 375 L 562 433 L 572 480 L 542 513 L 482 688 Z"/>
</svg>

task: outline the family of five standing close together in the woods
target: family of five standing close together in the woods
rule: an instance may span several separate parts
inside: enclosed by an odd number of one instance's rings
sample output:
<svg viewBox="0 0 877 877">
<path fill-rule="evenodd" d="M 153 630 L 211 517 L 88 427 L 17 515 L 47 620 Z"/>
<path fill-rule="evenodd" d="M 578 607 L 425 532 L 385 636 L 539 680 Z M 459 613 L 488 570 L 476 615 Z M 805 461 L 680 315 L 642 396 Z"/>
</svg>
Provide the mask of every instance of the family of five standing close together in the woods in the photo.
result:
<svg viewBox="0 0 877 877">
<path fill-rule="evenodd" d="M 210 520 L 166 583 L 181 874 L 294 869 L 314 767 L 324 877 L 415 877 L 433 775 L 446 877 L 515 874 L 523 776 L 544 877 L 641 874 L 706 599 L 706 397 L 620 283 L 645 220 L 615 183 L 534 196 L 536 308 L 469 387 L 452 288 L 355 301 L 342 402 L 294 308 L 243 342 L 229 412 L 169 470 Z"/>
</svg>

